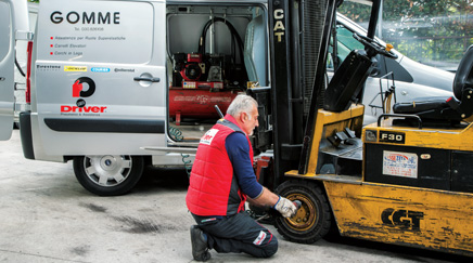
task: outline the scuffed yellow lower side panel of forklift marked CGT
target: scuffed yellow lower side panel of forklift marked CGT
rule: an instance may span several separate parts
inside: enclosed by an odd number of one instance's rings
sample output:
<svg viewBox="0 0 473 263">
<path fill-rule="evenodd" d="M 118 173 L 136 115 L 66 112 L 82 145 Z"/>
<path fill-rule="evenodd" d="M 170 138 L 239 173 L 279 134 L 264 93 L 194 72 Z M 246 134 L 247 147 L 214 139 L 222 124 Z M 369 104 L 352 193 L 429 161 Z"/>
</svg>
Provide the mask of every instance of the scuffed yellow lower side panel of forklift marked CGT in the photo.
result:
<svg viewBox="0 0 473 263">
<path fill-rule="evenodd" d="M 473 194 L 323 184 L 343 236 L 473 255 Z"/>
</svg>

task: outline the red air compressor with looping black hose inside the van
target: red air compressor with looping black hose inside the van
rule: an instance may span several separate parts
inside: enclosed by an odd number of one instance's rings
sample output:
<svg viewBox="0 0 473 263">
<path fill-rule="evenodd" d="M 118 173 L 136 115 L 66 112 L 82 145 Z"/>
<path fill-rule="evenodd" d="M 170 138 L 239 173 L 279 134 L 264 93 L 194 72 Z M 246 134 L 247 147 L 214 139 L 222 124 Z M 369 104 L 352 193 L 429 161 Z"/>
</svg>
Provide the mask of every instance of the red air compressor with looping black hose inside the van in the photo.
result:
<svg viewBox="0 0 473 263">
<path fill-rule="evenodd" d="M 206 32 L 214 23 L 223 23 L 230 30 L 232 44 L 238 47 L 231 55 L 205 52 Z M 203 27 L 196 53 L 172 55 L 172 84 L 169 88 L 169 117 L 176 124 L 183 118 L 218 119 L 217 105 L 225 114 L 228 106 L 246 89 L 243 64 L 243 41 L 234 27 L 221 17 L 209 19 Z M 239 63 L 238 63 L 239 62 Z"/>
</svg>

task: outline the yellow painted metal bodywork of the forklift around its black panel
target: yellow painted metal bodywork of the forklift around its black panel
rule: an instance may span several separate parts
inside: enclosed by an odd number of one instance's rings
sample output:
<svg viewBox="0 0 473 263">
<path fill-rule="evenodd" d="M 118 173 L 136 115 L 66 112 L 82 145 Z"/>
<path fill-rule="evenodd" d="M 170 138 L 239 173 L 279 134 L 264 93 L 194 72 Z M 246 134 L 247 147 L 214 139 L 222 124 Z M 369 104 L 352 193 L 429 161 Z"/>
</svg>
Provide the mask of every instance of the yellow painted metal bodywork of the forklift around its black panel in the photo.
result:
<svg viewBox="0 0 473 263">
<path fill-rule="evenodd" d="M 473 123 L 465 128 L 418 129 L 393 127 L 391 120 L 361 131 L 362 106 L 343 113 L 319 110 L 309 153 L 308 172 L 286 176 L 320 181 L 343 236 L 473 255 L 473 194 L 365 182 L 361 176 L 316 174 L 321 139 L 345 127 L 365 144 L 472 150 Z M 366 141 L 366 131 L 376 140 Z M 380 142 L 380 132 L 404 133 L 405 142 Z M 365 170 L 365 162 L 363 162 Z M 473 175 L 473 173 L 472 173 Z"/>
</svg>

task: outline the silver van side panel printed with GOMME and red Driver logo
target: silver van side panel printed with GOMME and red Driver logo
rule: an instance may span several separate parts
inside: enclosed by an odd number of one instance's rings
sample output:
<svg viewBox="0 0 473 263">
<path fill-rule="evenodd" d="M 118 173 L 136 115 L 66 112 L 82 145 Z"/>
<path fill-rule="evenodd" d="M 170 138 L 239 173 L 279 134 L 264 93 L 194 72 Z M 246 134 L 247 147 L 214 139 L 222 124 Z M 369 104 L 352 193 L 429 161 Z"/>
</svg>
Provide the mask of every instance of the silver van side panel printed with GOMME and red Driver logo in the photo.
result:
<svg viewBox="0 0 473 263">
<path fill-rule="evenodd" d="M 31 90 L 36 159 L 145 155 L 140 147 L 165 145 L 165 17 L 164 0 L 40 3 Z"/>
</svg>

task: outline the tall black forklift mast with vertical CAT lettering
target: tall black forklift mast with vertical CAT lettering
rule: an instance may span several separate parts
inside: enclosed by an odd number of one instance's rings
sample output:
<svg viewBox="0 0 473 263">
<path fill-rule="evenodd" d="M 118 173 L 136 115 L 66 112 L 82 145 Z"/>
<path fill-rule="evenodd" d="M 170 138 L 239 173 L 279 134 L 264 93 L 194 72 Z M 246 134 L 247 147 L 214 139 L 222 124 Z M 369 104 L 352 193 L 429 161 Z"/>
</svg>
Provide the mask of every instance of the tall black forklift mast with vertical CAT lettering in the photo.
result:
<svg viewBox="0 0 473 263">
<path fill-rule="evenodd" d="M 337 0 L 269 2 L 274 184 L 306 169 L 317 109 L 323 105 L 327 51 Z"/>
</svg>

